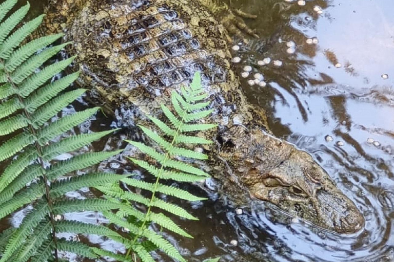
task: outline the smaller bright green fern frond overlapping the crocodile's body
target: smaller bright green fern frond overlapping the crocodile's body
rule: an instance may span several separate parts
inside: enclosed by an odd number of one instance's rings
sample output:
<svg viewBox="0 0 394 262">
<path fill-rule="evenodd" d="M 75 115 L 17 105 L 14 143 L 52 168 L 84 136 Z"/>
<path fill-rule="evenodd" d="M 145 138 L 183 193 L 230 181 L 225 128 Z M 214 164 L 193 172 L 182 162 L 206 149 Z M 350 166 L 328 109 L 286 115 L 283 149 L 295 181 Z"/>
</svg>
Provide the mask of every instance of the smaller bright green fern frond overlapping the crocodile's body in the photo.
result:
<svg viewBox="0 0 394 262">
<path fill-rule="evenodd" d="M 214 124 L 193 123 L 193 121 L 201 120 L 212 113 L 212 110 L 204 109 L 208 105 L 207 102 L 199 102 L 206 97 L 207 95 L 201 86 L 200 74 L 196 73 L 190 87 L 182 88 L 182 95 L 177 92 L 173 92 L 171 95 L 172 106 L 178 116 L 175 116 L 168 107 L 162 105 L 163 113 L 172 126 L 165 124 L 157 118 L 150 117 L 150 120 L 157 126 L 157 129 L 161 130 L 164 135 L 169 137 L 168 140 L 153 132 L 151 129 L 140 126 L 144 134 L 160 146 L 161 151 L 157 151 L 152 146 L 140 142 L 128 141 L 158 164 L 156 166 L 146 161 L 130 158 L 132 162 L 151 173 L 156 178 L 156 181 L 155 183 L 147 183 L 130 178 L 124 178 L 121 181 L 123 184 L 127 185 L 127 187 L 140 188 L 150 192 L 150 198 L 130 191 L 124 191 L 117 183 L 96 187 L 105 194 L 107 199 L 113 201 L 113 203 L 131 202 L 144 204 L 147 207 L 147 212 L 145 214 L 135 209 L 129 208 L 126 210 L 125 207 L 121 207 L 116 213 L 105 213 L 111 223 L 122 225 L 122 227 L 130 231 L 133 240 L 129 243 L 130 247 L 124 260 L 130 257 L 131 252 L 134 252 L 144 262 L 154 261 L 149 254 L 149 250 L 144 246 L 144 243 L 148 241 L 157 249 L 162 250 L 166 255 L 179 261 L 186 261 L 178 250 L 164 239 L 160 233 L 151 230 L 149 225 L 155 223 L 181 236 L 192 237 L 184 229 L 176 225 L 176 223 L 165 213 L 189 220 L 196 220 L 196 218 L 185 209 L 157 198 L 156 193 L 170 195 L 171 197 L 186 201 L 204 200 L 180 188 L 164 185 L 161 183 L 161 180 L 172 179 L 179 182 L 199 181 L 209 176 L 203 170 L 179 160 L 184 158 L 189 160 L 207 159 L 207 156 L 201 152 L 181 147 L 182 144 L 211 143 L 211 141 L 186 134 L 188 132 L 207 130 L 216 126 Z M 161 210 L 164 213 L 155 213 L 152 208 Z"/>
</svg>

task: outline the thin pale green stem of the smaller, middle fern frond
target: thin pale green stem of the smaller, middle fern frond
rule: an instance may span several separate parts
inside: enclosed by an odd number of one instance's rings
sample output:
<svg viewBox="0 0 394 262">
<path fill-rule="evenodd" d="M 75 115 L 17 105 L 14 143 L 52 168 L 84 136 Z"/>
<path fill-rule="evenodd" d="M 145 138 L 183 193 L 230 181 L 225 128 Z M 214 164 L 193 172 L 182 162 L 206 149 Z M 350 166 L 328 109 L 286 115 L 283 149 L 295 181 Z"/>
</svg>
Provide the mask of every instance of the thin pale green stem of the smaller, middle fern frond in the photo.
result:
<svg viewBox="0 0 394 262">
<path fill-rule="evenodd" d="M 139 232 L 138 235 L 136 235 L 136 236 L 134 237 L 131 247 L 127 250 L 126 259 L 127 259 L 127 257 L 129 257 L 129 255 L 130 255 L 130 253 L 131 253 L 131 251 L 132 251 L 132 246 L 134 246 L 134 244 L 135 244 L 135 242 L 137 241 L 137 239 L 142 235 L 142 231 L 144 230 L 145 225 L 146 225 L 146 223 L 148 222 L 148 216 L 149 216 L 149 214 L 150 214 L 150 212 L 151 212 L 151 209 L 152 209 L 152 203 L 153 203 L 153 201 L 155 200 L 155 193 L 156 193 L 156 191 L 157 191 L 157 187 L 159 186 L 159 182 L 160 182 L 162 173 L 163 173 L 163 171 L 164 171 L 165 162 L 170 158 L 171 149 L 172 149 L 172 147 L 173 147 L 173 145 L 174 145 L 176 139 L 177 139 L 178 136 L 179 136 L 180 130 L 181 130 L 182 125 L 183 125 L 183 123 L 184 123 L 184 121 L 185 121 L 185 117 L 187 116 L 188 110 L 190 110 L 190 103 L 187 104 L 187 108 L 185 109 L 185 111 L 184 111 L 184 113 L 183 113 L 183 115 L 182 115 L 181 124 L 180 124 L 180 125 L 178 126 L 178 128 L 176 129 L 176 132 L 175 132 L 175 134 L 174 134 L 174 136 L 173 136 L 173 138 L 172 138 L 172 141 L 171 141 L 171 145 L 170 145 L 170 147 L 169 147 L 169 150 L 167 150 L 166 156 L 165 156 L 164 161 L 163 161 L 163 163 L 162 163 L 162 166 L 161 166 L 161 168 L 160 168 L 160 170 L 159 170 L 159 174 L 157 174 L 156 181 L 155 181 L 155 183 L 154 183 L 154 187 L 153 187 L 153 191 L 152 191 L 152 197 L 151 197 L 150 202 L 149 202 L 149 204 L 148 204 L 148 210 L 147 210 L 147 212 L 145 213 L 144 221 L 143 221 L 143 223 L 142 223 L 142 225 L 141 225 L 141 227 L 140 227 L 140 232 Z"/>
</svg>

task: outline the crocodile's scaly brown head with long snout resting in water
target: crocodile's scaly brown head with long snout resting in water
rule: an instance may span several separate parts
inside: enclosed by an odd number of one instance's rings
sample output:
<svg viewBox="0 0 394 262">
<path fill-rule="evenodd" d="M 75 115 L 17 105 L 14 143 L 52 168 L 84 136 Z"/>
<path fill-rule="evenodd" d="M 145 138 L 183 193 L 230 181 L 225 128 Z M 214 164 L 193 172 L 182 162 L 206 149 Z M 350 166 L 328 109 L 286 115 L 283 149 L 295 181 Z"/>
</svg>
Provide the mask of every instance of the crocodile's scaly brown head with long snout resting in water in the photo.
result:
<svg viewBox="0 0 394 262">
<path fill-rule="evenodd" d="M 333 232 L 354 233 L 363 227 L 356 205 L 305 151 L 242 126 L 222 134 L 221 143 L 221 156 L 252 197 Z"/>
</svg>

